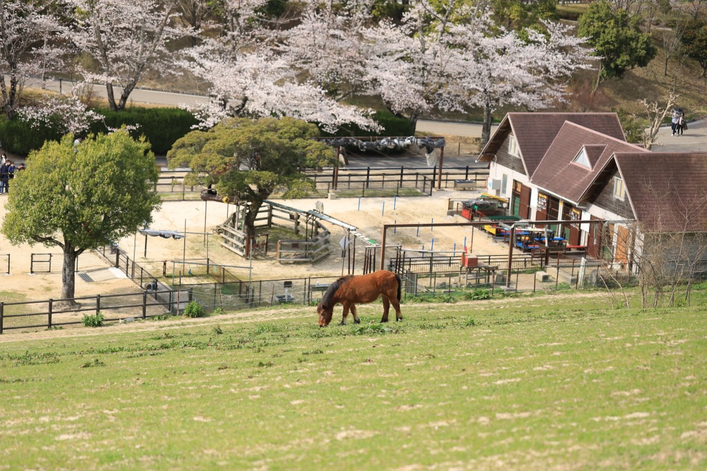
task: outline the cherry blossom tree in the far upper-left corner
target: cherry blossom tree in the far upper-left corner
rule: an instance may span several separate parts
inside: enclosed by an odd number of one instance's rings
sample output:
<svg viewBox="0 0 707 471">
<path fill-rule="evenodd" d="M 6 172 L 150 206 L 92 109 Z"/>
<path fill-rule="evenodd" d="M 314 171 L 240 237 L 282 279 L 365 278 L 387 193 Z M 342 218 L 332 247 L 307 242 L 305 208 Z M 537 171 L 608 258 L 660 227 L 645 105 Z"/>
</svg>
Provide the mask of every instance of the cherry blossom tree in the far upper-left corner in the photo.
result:
<svg viewBox="0 0 707 471">
<path fill-rule="evenodd" d="M 62 25 L 54 8 L 49 0 L 0 1 L 1 106 L 9 118 L 16 112 L 25 81 L 43 75 L 61 54 Z"/>
</svg>

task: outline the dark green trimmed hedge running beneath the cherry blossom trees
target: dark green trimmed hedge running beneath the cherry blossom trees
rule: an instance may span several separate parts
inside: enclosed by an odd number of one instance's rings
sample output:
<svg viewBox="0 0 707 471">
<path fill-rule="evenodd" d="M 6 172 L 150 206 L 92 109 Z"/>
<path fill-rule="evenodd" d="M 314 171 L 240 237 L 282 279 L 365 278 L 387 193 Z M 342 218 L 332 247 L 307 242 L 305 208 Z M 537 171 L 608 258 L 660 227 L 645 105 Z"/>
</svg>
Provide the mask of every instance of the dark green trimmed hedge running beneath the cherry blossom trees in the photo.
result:
<svg viewBox="0 0 707 471">
<path fill-rule="evenodd" d="M 121 112 L 110 109 L 96 109 L 105 118 L 90 127 L 90 133 L 105 133 L 123 124 L 138 125 L 132 131 L 134 137 L 144 135 L 158 155 L 165 155 L 177 139 L 192 131 L 197 119 L 184 109 L 132 107 Z M 412 126 L 408 119 L 398 117 L 388 111 L 375 112 L 373 118 L 384 128 L 380 133 L 363 131 L 358 126 L 346 126 L 336 136 L 411 136 Z M 324 136 L 332 134 L 322 133 Z M 59 140 L 61 135 L 49 126 L 33 128 L 20 119 L 0 119 L 0 146 L 9 153 L 28 155 L 30 150 L 39 149 L 48 140 Z"/>
</svg>

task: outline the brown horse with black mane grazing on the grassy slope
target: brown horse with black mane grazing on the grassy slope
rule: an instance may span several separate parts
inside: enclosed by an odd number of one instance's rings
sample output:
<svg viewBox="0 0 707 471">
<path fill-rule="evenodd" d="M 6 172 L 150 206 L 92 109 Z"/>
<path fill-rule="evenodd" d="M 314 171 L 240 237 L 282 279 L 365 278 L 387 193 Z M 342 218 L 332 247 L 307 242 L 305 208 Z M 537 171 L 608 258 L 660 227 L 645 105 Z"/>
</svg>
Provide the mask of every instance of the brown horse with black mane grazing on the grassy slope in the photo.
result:
<svg viewBox="0 0 707 471">
<path fill-rule="evenodd" d="M 400 277 L 388 270 L 378 270 L 368 275 L 346 275 L 336 280 L 327 289 L 322 300 L 317 305 L 319 326 L 328 326 L 334 315 L 334 306 L 341 303 L 344 306 L 344 317 L 341 325 L 346 326 L 346 317 L 354 314 L 354 323 L 361 319 L 356 314 L 356 303 L 374 302 L 378 297 L 383 298 L 383 317 L 381 322 L 388 321 L 390 304 L 395 308 L 395 320 L 402 321 L 400 314 Z"/>
</svg>

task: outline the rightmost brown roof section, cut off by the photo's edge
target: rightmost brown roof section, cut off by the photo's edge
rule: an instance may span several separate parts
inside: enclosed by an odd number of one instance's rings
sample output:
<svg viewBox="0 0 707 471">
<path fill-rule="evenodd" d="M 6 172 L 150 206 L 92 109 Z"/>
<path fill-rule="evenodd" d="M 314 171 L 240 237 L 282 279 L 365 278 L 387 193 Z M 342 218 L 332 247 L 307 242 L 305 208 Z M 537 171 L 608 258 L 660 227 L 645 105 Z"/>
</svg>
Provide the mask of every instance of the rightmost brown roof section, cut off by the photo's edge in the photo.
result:
<svg viewBox="0 0 707 471">
<path fill-rule="evenodd" d="M 614 162 L 645 232 L 707 231 L 707 153 L 617 153 Z"/>
</svg>

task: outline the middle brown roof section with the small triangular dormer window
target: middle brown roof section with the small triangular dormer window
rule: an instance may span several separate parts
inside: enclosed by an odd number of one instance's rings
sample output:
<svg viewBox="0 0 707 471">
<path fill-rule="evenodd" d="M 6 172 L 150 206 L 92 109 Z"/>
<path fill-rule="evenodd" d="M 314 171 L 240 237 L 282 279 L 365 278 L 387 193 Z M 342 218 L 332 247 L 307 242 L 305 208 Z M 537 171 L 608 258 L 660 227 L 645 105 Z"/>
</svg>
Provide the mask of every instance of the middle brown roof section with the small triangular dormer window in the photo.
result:
<svg viewBox="0 0 707 471">
<path fill-rule="evenodd" d="M 573 162 L 582 148 L 587 150 L 592 168 Z M 637 145 L 566 121 L 530 177 L 530 182 L 578 203 L 615 152 L 649 153 Z"/>
</svg>

